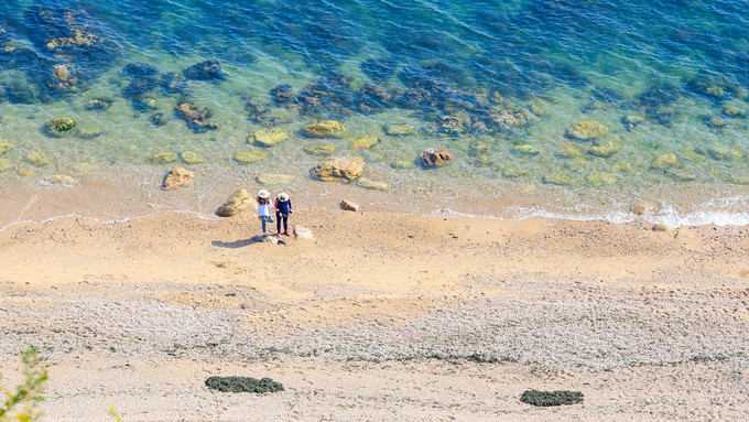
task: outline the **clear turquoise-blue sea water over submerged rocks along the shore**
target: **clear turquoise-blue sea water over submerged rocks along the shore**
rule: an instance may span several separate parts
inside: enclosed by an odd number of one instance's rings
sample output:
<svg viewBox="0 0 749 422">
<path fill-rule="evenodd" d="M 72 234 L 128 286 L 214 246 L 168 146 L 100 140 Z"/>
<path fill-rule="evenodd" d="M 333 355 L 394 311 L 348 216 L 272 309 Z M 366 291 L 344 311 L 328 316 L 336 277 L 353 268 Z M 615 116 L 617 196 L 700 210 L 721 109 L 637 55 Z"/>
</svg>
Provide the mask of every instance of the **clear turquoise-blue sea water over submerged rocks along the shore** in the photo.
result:
<svg viewBox="0 0 749 422">
<path fill-rule="evenodd" d="M 390 184 L 382 202 L 436 193 L 466 214 L 623 218 L 649 201 L 676 223 L 749 224 L 747 6 L 6 0 L 0 142 L 12 149 L 0 182 L 146 174 L 171 165 L 156 153 L 196 152 L 204 162 L 187 166 L 198 174 L 283 172 L 296 190 L 319 190 L 307 171 L 323 159 L 304 147 L 330 144 Z M 186 101 L 211 117 L 181 118 Z M 77 125 L 53 133 L 56 117 Z M 321 119 L 349 130 L 305 137 Z M 578 122 L 605 130 L 576 139 Z M 265 129 L 289 139 L 248 143 Z M 367 136 L 378 143 L 358 149 Z M 424 170 L 426 148 L 455 162 Z M 248 150 L 267 158 L 232 159 Z M 221 183 L 210 180 L 195 190 Z"/>
</svg>

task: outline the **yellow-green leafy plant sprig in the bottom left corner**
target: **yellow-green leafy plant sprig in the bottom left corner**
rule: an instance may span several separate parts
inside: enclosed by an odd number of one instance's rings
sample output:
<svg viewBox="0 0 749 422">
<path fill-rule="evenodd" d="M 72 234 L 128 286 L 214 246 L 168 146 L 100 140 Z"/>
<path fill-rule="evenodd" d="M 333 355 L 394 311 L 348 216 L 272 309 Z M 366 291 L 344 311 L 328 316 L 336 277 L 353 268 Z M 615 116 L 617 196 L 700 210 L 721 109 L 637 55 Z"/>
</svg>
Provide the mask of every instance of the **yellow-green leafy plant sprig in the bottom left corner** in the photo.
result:
<svg viewBox="0 0 749 422">
<path fill-rule="evenodd" d="M 28 347 L 21 353 L 23 363 L 23 383 L 15 387 L 14 391 L 0 387 L 0 391 L 7 397 L 6 402 L 0 404 L 0 422 L 31 422 L 37 421 L 42 412 L 36 410 L 44 400 L 44 382 L 47 380 L 46 369 L 41 365 L 41 357 L 35 347 Z M 19 409 L 23 407 L 23 409 Z M 13 415 L 14 413 L 14 415 Z"/>
</svg>

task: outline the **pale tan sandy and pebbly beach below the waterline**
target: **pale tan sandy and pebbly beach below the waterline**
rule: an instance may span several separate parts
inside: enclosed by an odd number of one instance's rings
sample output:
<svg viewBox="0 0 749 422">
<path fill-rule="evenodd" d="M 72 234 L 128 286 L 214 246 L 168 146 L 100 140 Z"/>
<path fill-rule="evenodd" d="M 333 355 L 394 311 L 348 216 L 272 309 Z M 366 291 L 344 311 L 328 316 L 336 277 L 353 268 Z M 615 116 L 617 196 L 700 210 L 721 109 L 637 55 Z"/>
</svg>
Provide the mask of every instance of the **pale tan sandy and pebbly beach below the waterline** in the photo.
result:
<svg viewBox="0 0 749 422">
<path fill-rule="evenodd" d="M 0 364 L 51 421 L 747 420 L 749 229 L 301 210 L 0 231 Z M 269 396 L 207 390 L 271 377 Z M 4 381 L 8 383 L 8 379 Z M 529 388 L 579 405 L 521 403 Z"/>
</svg>

